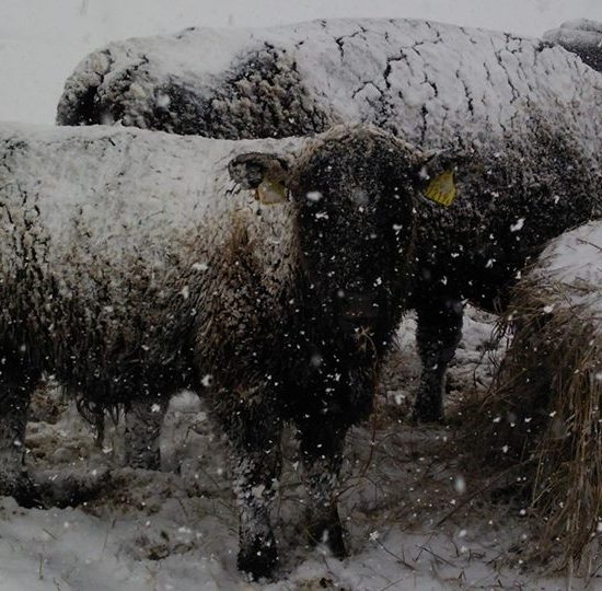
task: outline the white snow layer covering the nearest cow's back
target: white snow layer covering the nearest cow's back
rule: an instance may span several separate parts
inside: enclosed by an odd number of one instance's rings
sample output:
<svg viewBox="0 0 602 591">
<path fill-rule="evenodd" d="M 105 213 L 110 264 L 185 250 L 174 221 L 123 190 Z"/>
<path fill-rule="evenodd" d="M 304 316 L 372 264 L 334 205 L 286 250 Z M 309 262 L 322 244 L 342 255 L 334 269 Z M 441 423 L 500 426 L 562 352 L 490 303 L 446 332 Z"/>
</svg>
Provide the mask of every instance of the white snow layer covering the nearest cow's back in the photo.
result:
<svg viewBox="0 0 602 591">
<path fill-rule="evenodd" d="M 289 141 L 291 146 L 294 140 Z M 0 125 L 0 202 L 36 206 L 36 223 L 62 256 L 80 237 L 119 256 L 154 251 L 235 209 L 253 209 L 234 189 L 228 162 L 269 140 L 232 142 L 120 127 Z M 12 201 L 12 202 L 11 202 Z M 211 240 L 209 232 L 207 239 Z"/>
</svg>

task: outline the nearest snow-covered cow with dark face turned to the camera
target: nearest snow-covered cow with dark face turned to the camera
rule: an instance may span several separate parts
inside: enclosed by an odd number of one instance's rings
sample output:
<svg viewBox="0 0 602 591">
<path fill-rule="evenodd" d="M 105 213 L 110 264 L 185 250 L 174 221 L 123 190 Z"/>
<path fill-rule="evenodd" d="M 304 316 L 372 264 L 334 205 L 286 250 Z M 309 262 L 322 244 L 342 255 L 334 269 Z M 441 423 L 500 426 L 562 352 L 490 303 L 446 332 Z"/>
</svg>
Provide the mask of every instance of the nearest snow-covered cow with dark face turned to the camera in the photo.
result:
<svg viewBox="0 0 602 591">
<path fill-rule="evenodd" d="M 188 387 L 236 451 L 240 567 L 277 561 L 285 421 L 313 541 L 343 554 L 341 447 L 400 322 L 421 159 L 366 126 L 253 142 L 0 126 L 0 490 L 33 500 L 21 460 L 40 372 L 99 407 Z M 244 189 L 264 183 L 289 199 L 257 206 Z"/>
</svg>

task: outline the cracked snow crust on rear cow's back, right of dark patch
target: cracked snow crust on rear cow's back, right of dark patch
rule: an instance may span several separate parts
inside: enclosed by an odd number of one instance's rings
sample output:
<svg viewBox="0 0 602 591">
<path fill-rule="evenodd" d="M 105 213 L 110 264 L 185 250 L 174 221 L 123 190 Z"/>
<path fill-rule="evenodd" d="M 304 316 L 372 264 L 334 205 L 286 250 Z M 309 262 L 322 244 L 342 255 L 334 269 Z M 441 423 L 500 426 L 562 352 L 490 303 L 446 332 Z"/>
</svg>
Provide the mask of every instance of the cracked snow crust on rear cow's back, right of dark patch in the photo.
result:
<svg viewBox="0 0 602 591">
<path fill-rule="evenodd" d="M 351 31 L 343 36 L 338 25 L 328 22 L 336 43 L 317 56 L 308 35 L 298 62 L 344 120 L 369 120 L 430 148 L 459 137 L 503 141 L 537 112 L 584 137 L 601 129 L 602 78 L 560 47 L 419 20 L 345 22 Z"/>
</svg>

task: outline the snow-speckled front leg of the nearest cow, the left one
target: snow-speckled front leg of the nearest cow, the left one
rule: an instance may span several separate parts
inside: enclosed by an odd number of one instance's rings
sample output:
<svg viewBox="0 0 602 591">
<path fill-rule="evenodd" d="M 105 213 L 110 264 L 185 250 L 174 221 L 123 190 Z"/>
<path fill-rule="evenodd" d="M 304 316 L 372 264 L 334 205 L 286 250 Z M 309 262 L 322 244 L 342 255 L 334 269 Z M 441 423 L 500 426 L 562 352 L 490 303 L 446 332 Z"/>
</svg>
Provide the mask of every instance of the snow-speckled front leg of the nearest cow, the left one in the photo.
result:
<svg viewBox="0 0 602 591">
<path fill-rule="evenodd" d="M 253 432 L 243 428 L 233 439 L 234 491 L 240 512 L 238 565 L 254 579 L 269 577 L 278 564 L 270 512 L 282 464 L 280 429 L 267 425 L 266 416 L 253 419 Z"/>
</svg>

